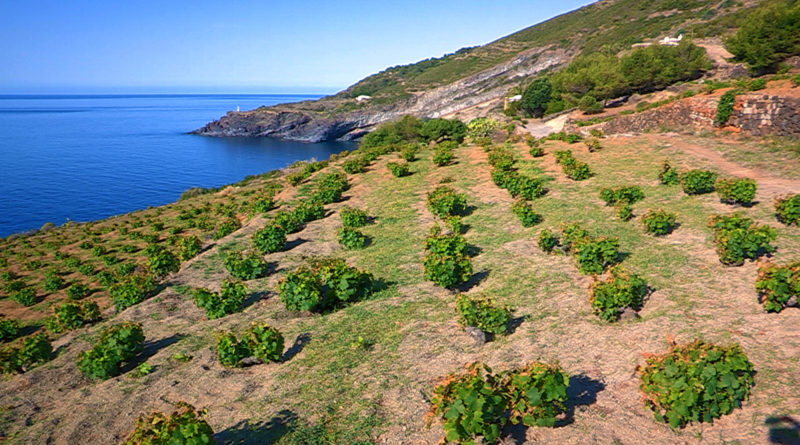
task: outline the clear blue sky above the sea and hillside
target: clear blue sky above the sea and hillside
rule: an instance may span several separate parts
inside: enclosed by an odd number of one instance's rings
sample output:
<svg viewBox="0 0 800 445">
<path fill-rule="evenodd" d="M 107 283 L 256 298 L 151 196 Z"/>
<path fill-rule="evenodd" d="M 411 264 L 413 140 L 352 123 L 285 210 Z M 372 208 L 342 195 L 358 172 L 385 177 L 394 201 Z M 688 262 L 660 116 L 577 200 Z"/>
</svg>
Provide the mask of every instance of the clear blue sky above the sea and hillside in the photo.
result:
<svg viewBox="0 0 800 445">
<path fill-rule="evenodd" d="M 0 93 L 334 92 L 590 0 L 2 0 Z"/>
</svg>

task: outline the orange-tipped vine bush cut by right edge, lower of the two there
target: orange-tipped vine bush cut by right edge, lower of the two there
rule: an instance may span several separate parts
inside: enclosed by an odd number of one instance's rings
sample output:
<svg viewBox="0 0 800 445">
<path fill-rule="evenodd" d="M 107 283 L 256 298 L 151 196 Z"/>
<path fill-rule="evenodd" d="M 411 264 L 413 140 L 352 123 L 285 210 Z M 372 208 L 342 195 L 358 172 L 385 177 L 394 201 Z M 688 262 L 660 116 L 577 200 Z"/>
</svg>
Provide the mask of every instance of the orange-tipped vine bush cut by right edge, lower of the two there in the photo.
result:
<svg viewBox="0 0 800 445">
<path fill-rule="evenodd" d="M 758 268 L 756 290 L 767 312 L 780 312 L 800 298 L 800 262 L 786 266 L 764 263 Z M 792 299 L 794 299 L 792 301 Z"/>
</svg>

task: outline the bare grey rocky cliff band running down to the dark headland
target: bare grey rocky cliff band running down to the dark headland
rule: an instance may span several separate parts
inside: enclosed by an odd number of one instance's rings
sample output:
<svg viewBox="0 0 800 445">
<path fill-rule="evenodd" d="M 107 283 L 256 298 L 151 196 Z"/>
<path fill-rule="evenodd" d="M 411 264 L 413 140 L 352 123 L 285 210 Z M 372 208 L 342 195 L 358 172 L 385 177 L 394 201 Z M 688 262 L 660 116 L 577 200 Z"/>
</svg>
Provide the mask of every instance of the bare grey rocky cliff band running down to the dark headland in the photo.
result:
<svg viewBox="0 0 800 445">
<path fill-rule="evenodd" d="M 563 49 L 535 48 L 512 60 L 448 85 L 414 93 L 389 104 L 366 104 L 332 96 L 319 101 L 229 112 L 195 130 L 204 136 L 270 136 L 303 142 L 352 140 L 376 125 L 404 114 L 435 118 L 503 97 L 512 81 L 568 63 L 574 54 Z M 356 107 L 352 111 L 339 111 Z"/>
</svg>

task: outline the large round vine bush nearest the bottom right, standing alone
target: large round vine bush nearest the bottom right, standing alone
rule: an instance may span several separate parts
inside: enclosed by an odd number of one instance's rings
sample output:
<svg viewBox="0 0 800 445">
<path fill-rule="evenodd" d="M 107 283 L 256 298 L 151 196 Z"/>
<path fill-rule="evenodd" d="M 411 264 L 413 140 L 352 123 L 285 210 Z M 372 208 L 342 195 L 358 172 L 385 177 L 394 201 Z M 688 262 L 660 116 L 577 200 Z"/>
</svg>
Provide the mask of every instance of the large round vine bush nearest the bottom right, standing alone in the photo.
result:
<svg viewBox="0 0 800 445">
<path fill-rule="evenodd" d="M 645 404 L 673 428 L 713 422 L 741 406 L 753 386 L 753 364 L 738 344 L 697 340 L 647 358 L 639 369 Z"/>
</svg>

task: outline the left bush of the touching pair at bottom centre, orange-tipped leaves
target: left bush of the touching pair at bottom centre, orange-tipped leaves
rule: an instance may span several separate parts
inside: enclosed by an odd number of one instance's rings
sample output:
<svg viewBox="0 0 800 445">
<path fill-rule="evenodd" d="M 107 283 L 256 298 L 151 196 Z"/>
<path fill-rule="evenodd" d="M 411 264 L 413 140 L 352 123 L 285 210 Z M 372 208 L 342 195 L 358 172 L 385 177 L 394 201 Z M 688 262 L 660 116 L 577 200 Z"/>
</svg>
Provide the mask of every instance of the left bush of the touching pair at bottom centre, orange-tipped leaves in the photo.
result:
<svg viewBox="0 0 800 445">
<path fill-rule="evenodd" d="M 499 380 L 482 363 L 468 365 L 464 374 L 447 376 L 433 390 L 428 426 L 440 417 L 446 442 L 474 443 L 478 436 L 485 443 L 495 442 L 507 422 L 508 408 Z"/>
</svg>

